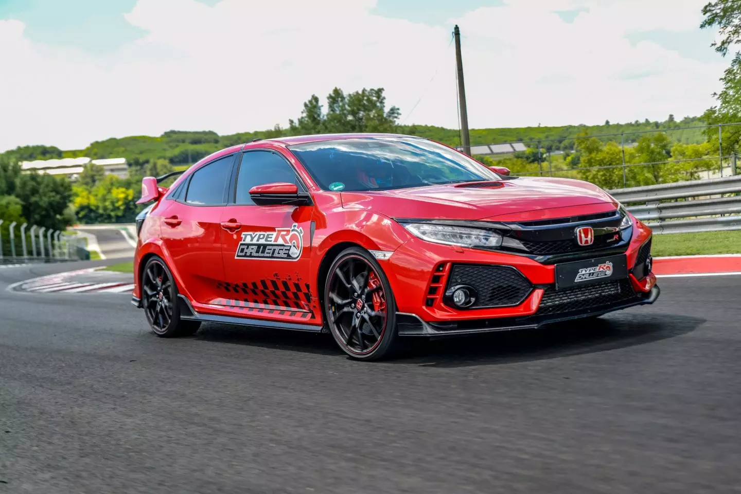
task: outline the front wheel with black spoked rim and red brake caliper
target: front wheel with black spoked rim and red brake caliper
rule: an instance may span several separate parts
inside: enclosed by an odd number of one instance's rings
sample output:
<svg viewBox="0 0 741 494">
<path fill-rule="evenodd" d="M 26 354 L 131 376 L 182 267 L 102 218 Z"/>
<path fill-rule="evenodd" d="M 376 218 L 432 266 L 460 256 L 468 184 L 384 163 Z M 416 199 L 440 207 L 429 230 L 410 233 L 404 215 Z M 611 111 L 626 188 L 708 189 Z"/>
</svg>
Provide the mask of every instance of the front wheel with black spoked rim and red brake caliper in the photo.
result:
<svg viewBox="0 0 741 494">
<path fill-rule="evenodd" d="M 330 266 L 324 293 L 327 325 L 357 360 L 388 358 L 396 347 L 396 301 L 380 264 L 367 250 L 343 250 Z"/>
</svg>

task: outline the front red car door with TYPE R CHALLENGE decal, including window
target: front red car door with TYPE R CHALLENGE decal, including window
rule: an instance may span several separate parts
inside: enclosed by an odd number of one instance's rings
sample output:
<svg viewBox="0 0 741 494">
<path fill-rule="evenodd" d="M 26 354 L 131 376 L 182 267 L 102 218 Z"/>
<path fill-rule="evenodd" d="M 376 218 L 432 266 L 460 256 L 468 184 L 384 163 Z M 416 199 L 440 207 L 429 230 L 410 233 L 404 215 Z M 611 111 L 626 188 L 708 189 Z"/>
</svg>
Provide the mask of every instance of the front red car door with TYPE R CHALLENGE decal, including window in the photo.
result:
<svg viewBox="0 0 741 494">
<path fill-rule="evenodd" d="M 256 185 L 276 182 L 306 187 L 276 150 L 241 154 L 230 204 L 222 212 L 222 257 L 227 283 L 224 304 L 250 317 L 311 324 L 316 319 L 309 281 L 311 205 L 258 206 L 250 198 Z"/>
</svg>

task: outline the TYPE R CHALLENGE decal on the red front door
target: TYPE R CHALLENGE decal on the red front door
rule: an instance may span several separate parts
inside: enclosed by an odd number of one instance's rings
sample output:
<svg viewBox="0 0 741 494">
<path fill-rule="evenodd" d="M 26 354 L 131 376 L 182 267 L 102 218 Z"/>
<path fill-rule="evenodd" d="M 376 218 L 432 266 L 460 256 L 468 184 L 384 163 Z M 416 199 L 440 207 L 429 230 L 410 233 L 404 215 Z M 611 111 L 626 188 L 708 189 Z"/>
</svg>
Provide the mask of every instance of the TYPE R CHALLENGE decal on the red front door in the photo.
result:
<svg viewBox="0 0 741 494">
<path fill-rule="evenodd" d="M 277 259 L 298 261 L 304 250 L 304 229 L 294 223 L 290 228 L 267 232 L 244 232 L 236 247 L 235 259 Z"/>
</svg>

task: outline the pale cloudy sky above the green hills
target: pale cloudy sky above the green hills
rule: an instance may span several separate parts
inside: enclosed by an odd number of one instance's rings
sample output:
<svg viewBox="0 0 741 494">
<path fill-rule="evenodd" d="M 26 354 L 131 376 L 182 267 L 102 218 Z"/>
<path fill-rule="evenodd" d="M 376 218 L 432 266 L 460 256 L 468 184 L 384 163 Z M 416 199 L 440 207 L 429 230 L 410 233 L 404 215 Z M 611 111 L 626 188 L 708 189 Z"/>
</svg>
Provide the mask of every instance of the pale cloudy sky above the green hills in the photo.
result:
<svg viewBox="0 0 741 494">
<path fill-rule="evenodd" d="M 730 63 L 707 0 L 0 0 L 0 151 L 285 127 L 312 94 L 384 87 L 404 124 L 700 115 Z"/>
</svg>

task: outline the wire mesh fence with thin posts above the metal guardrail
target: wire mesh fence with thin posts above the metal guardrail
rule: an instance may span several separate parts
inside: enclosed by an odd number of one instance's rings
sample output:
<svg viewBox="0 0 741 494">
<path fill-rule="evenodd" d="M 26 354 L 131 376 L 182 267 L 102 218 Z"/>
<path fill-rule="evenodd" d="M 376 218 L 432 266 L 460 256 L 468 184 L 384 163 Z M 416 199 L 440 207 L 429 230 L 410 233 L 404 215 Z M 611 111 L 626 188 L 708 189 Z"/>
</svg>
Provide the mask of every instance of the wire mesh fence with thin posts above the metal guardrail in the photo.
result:
<svg viewBox="0 0 741 494">
<path fill-rule="evenodd" d="M 709 134 L 708 129 L 715 128 L 718 130 L 717 146 L 708 143 L 704 138 Z M 737 155 L 729 153 L 727 149 L 724 154 L 724 133 L 727 141 L 733 141 L 735 144 L 741 133 L 741 122 L 479 144 L 471 146 L 471 153 L 487 156 L 490 161 L 488 164 L 498 164 L 497 161 L 502 161 L 502 166 L 508 166 L 510 164 L 508 161 L 513 161 L 511 158 L 519 158 L 516 164 L 511 166 L 512 175 L 581 178 L 604 188 L 625 188 L 633 185 L 736 175 Z M 651 137 L 653 141 L 648 141 L 645 149 L 637 148 L 639 138 L 644 136 Z M 614 142 L 614 145 L 611 147 L 611 153 L 605 153 L 605 156 L 597 160 L 599 161 L 597 166 L 584 166 L 580 161 L 585 153 L 579 151 L 579 145 L 576 143 L 582 141 L 584 144 L 585 139 L 591 138 L 597 138 L 602 144 Z M 669 156 L 665 151 L 668 147 L 674 147 L 674 144 L 697 144 L 705 148 L 705 153 L 702 156 L 695 156 L 700 150 L 699 147 L 684 149 L 678 147 L 678 156 Z M 497 153 L 498 150 L 508 148 L 521 151 Z M 645 153 L 642 156 L 637 150 Z M 684 156 L 684 153 L 687 156 Z M 577 158 L 567 161 L 566 158 L 572 154 Z"/>
</svg>

